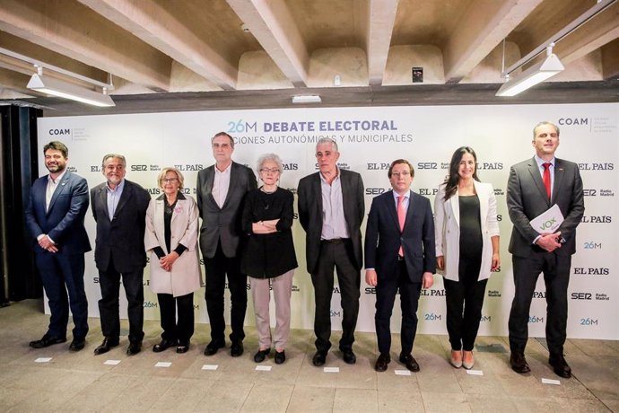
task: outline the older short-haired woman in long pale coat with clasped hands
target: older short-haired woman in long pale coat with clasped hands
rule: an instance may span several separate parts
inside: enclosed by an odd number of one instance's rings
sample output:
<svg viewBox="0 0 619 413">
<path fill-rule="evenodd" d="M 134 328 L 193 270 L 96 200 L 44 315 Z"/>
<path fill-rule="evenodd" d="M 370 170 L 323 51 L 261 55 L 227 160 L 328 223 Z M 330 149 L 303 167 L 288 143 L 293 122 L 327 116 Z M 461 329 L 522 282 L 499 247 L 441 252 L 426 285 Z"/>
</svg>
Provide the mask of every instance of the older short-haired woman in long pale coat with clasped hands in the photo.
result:
<svg viewBox="0 0 619 413">
<path fill-rule="evenodd" d="M 161 342 L 153 351 L 176 346 L 177 353 L 186 353 L 194 334 L 194 291 L 202 283 L 198 210 L 196 201 L 179 191 L 184 183 L 179 170 L 163 168 L 157 181 L 163 195 L 148 206 L 144 234 L 144 246 L 150 253 L 150 286 L 159 300 L 163 329 Z"/>
</svg>

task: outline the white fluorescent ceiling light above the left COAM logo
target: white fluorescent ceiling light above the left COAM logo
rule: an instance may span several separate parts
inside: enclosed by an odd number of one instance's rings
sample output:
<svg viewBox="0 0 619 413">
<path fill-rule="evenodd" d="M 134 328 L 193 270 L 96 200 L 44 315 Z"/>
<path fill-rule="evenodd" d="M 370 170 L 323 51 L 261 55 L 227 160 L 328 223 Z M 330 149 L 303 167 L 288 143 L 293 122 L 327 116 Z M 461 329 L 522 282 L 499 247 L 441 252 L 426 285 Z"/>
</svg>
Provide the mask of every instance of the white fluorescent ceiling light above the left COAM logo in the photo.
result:
<svg viewBox="0 0 619 413">
<path fill-rule="evenodd" d="M 89 105 L 106 107 L 116 106 L 112 98 L 107 94 L 94 92 L 73 83 L 67 83 L 46 75 L 34 74 L 28 83 L 28 89 L 33 91 L 48 93 L 61 98 L 81 101 Z"/>
</svg>

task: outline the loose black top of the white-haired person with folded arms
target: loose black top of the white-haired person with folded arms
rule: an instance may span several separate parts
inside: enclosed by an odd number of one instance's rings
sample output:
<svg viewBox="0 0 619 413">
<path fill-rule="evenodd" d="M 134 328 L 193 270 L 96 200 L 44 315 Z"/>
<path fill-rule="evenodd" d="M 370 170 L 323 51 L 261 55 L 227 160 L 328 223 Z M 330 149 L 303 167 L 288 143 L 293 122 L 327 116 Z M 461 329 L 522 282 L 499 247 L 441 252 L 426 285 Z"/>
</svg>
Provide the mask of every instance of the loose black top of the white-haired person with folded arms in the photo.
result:
<svg viewBox="0 0 619 413">
<path fill-rule="evenodd" d="M 241 224 L 248 239 L 243 248 L 240 270 L 254 278 L 273 278 L 297 268 L 297 256 L 292 242 L 294 195 L 278 188 L 272 194 L 260 189 L 248 192 L 243 206 Z M 252 224 L 279 219 L 276 233 L 253 233 Z"/>
</svg>

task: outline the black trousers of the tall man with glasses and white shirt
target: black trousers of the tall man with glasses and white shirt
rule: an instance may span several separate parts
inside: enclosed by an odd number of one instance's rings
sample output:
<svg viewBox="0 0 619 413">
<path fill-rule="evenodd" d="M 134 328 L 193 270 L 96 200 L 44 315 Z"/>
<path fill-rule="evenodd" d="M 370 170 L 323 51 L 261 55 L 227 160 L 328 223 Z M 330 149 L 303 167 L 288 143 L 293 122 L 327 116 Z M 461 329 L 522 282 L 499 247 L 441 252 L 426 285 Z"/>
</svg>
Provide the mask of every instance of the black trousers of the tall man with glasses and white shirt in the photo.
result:
<svg viewBox="0 0 619 413">
<path fill-rule="evenodd" d="M 231 295 L 232 332 L 230 339 L 242 341 L 245 338 L 243 324 L 248 307 L 248 277 L 240 273 L 240 257 L 226 257 L 220 243 L 217 245 L 214 257 L 205 258 L 205 272 L 206 312 L 208 312 L 208 319 L 211 323 L 211 339 L 222 344 L 225 342 L 226 322 L 223 319 L 223 293 L 227 276 Z"/>
</svg>

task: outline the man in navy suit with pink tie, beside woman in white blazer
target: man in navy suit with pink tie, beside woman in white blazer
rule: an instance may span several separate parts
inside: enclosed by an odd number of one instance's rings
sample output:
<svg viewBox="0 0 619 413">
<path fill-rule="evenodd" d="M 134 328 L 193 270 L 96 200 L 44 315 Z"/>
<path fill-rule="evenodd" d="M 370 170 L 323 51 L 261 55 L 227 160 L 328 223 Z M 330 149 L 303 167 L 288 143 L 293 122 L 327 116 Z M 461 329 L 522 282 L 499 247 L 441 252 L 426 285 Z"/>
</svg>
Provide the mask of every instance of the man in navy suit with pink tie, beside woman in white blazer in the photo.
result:
<svg viewBox="0 0 619 413">
<path fill-rule="evenodd" d="M 387 370 L 391 361 L 390 320 L 397 290 L 402 308 L 399 360 L 419 371 L 413 343 L 417 330 L 417 306 L 423 288 L 430 288 L 436 272 L 434 221 L 430 200 L 413 192 L 413 165 L 404 159 L 391 163 L 391 188 L 374 198 L 365 231 L 365 282 L 376 287 L 376 336 L 379 358 L 374 368 Z"/>
</svg>

